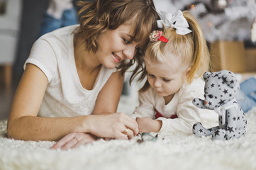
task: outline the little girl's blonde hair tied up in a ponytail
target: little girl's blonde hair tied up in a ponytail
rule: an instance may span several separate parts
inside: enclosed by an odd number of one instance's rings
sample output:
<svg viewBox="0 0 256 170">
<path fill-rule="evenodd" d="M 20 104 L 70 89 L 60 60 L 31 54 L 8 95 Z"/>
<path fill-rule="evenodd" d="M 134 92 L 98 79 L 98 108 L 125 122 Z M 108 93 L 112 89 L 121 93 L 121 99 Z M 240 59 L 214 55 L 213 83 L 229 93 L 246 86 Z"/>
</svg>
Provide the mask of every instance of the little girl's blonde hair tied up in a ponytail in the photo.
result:
<svg viewBox="0 0 256 170">
<path fill-rule="evenodd" d="M 167 53 L 177 57 L 182 57 L 182 62 L 187 64 L 189 72 L 187 74 L 187 81 L 189 84 L 195 77 L 201 77 L 204 72 L 208 71 L 210 66 L 210 54 L 206 40 L 204 38 L 203 31 L 199 26 L 196 18 L 189 13 L 189 11 L 183 11 L 184 18 L 189 23 L 189 29 L 191 33 L 187 35 L 179 35 L 176 33 L 175 28 L 164 28 L 163 36 L 169 41 L 162 42 L 150 42 L 147 47 L 146 54 L 148 62 L 167 62 Z M 165 55 L 163 55 L 165 52 Z M 147 75 L 146 69 L 143 69 L 143 73 L 139 80 L 143 80 Z M 140 91 L 145 91 L 149 88 L 148 81 L 146 81 Z"/>
</svg>

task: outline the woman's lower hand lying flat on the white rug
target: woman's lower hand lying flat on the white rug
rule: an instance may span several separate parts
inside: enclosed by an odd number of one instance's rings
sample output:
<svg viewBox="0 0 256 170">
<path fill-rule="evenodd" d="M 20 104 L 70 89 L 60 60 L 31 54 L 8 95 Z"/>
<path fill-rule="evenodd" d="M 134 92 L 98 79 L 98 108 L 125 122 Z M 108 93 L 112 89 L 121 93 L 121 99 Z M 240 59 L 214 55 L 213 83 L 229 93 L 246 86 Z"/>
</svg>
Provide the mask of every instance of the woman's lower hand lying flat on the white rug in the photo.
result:
<svg viewBox="0 0 256 170">
<path fill-rule="evenodd" d="M 72 132 L 57 141 L 51 149 L 67 150 L 69 148 L 79 147 L 94 142 L 97 139 L 94 135 L 82 132 Z"/>
</svg>

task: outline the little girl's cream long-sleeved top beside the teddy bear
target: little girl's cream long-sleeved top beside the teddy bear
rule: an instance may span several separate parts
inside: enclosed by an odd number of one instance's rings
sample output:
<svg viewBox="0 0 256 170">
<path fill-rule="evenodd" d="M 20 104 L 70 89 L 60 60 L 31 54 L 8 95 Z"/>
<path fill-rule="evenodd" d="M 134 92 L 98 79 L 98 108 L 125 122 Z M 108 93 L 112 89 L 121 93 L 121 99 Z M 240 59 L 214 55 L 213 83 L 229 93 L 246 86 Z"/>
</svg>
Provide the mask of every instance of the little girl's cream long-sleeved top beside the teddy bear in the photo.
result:
<svg viewBox="0 0 256 170">
<path fill-rule="evenodd" d="M 135 108 L 132 117 L 155 119 L 156 111 L 162 114 L 163 117 L 157 118 L 162 120 L 162 128 L 158 132 L 160 135 L 168 135 L 172 132 L 191 134 L 192 126 L 197 122 L 201 122 L 208 128 L 217 126 L 218 114 L 211 110 L 197 108 L 192 103 L 194 98 L 204 98 L 204 81 L 200 78 L 194 79 L 191 84 L 183 84 L 167 105 L 165 105 L 165 99 L 150 87 L 139 94 L 140 105 Z M 175 114 L 178 118 L 171 119 L 170 117 Z"/>
</svg>

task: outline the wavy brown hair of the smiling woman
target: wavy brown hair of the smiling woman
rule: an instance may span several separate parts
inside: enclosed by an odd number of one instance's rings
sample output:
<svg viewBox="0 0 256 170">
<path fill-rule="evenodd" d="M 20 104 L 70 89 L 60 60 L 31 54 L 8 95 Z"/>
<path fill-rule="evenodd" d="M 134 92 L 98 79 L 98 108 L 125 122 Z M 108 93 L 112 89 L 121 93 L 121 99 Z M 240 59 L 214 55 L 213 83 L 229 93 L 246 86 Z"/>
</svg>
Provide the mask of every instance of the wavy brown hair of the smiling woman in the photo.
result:
<svg viewBox="0 0 256 170">
<path fill-rule="evenodd" d="M 118 69 L 124 74 L 135 62 L 137 67 L 133 70 L 131 79 L 138 74 L 143 65 L 145 47 L 148 45 L 148 35 L 157 29 L 158 13 L 152 0 L 97 0 L 93 2 L 79 1 L 80 26 L 74 30 L 75 38 L 85 42 L 85 50 L 96 52 L 99 49 L 97 36 L 106 30 L 115 30 L 131 18 L 133 23 L 133 38 L 131 41 L 139 42 L 140 50 L 130 62 L 121 62 Z M 141 72 L 141 70 L 140 70 Z M 130 80 L 131 81 L 131 80 Z"/>
</svg>

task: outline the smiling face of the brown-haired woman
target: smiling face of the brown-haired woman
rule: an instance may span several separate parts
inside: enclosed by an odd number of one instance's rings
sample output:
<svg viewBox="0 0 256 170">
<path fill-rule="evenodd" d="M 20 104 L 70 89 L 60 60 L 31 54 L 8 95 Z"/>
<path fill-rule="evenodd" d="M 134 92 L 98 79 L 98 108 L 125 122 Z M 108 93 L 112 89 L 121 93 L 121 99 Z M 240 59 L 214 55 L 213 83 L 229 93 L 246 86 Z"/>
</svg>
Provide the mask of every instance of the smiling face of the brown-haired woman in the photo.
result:
<svg viewBox="0 0 256 170">
<path fill-rule="evenodd" d="M 116 30 L 107 30 L 97 38 L 99 50 L 96 59 L 105 67 L 112 69 L 122 60 L 132 60 L 137 52 L 138 42 L 132 39 L 132 20 Z"/>
</svg>

